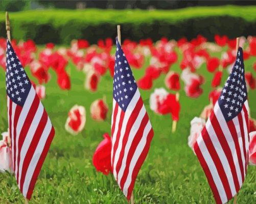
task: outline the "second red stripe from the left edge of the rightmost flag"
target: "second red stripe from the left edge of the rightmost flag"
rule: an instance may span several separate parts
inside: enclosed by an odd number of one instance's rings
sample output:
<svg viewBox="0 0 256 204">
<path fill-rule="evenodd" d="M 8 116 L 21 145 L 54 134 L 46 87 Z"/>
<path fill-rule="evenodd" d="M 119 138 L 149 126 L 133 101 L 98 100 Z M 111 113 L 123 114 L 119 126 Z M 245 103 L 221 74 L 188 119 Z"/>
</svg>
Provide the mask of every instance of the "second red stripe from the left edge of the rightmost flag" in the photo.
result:
<svg viewBox="0 0 256 204">
<path fill-rule="evenodd" d="M 227 175 L 225 173 L 225 170 L 223 168 L 221 160 L 220 160 L 220 158 L 217 154 L 217 151 L 214 147 L 214 144 L 213 144 L 205 126 L 204 126 L 201 134 L 202 134 L 202 138 L 203 138 L 203 141 L 205 143 L 205 146 L 206 146 L 209 154 L 211 155 L 211 158 L 212 158 L 212 160 L 213 160 L 213 162 L 216 166 L 216 169 L 217 169 L 218 174 L 220 176 L 220 180 L 223 184 L 227 199 L 229 200 L 229 199 L 232 198 L 232 193 L 231 193 L 231 189 L 230 189 L 230 186 L 229 186 L 229 183 L 228 183 Z"/>
</svg>

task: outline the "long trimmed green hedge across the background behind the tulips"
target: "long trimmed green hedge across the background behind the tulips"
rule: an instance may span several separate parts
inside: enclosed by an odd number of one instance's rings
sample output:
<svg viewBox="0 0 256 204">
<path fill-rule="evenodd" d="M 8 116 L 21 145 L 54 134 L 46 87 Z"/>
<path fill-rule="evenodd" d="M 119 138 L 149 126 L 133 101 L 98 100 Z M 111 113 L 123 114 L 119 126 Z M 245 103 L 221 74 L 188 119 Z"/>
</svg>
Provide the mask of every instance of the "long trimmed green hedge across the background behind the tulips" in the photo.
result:
<svg viewBox="0 0 256 204">
<path fill-rule="evenodd" d="M 191 39 L 198 34 L 214 39 L 215 34 L 256 35 L 255 6 L 193 7 L 178 10 L 32 10 L 10 13 L 11 35 L 15 39 L 33 39 L 38 44 L 69 44 L 72 39 L 98 39 L 117 35 L 138 41 L 165 36 Z M 0 36 L 6 36 L 5 14 L 0 14 Z"/>
</svg>

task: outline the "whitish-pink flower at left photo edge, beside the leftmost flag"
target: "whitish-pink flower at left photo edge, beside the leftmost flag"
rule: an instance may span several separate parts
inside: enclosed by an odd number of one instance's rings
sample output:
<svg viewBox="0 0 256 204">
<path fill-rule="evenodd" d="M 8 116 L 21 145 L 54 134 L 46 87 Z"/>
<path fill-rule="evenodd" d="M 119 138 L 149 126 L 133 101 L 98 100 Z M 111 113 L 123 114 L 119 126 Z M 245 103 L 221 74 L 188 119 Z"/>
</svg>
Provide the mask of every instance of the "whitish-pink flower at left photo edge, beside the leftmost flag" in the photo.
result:
<svg viewBox="0 0 256 204">
<path fill-rule="evenodd" d="M 2 133 L 3 140 L 0 140 L 0 172 L 9 171 L 13 173 L 11 147 L 8 146 L 9 133 Z"/>
</svg>

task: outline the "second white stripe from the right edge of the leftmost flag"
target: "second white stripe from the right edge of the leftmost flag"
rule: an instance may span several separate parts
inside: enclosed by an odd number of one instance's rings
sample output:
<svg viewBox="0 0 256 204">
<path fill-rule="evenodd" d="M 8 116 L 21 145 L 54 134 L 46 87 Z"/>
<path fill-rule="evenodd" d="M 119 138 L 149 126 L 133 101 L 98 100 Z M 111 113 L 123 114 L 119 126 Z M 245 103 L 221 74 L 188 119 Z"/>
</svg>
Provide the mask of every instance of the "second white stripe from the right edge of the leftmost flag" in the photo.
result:
<svg viewBox="0 0 256 204">
<path fill-rule="evenodd" d="M 19 187 L 20 187 L 20 178 L 21 178 L 21 174 L 22 174 L 23 162 L 24 162 L 25 156 L 27 155 L 27 151 L 30 147 L 31 141 L 34 138 L 34 134 L 37 130 L 38 124 L 39 124 L 39 122 L 41 122 L 40 120 L 41 120 L 41 117 L 42 117 L 42 114 L 43 114 L 43 110 L 44 109 L 43 109 L 42 104 L 39 103 L 36 114 L 33 118 L 33 121 L 30 125 L 29 131 L 26 135 L 26 138 L 25 138 L 24 143 L 23 143 L 23 145 L 21 147 L 21 150 L 20 150 L 19 177 L 17 178 L 17 180 L 19 181 L 19 183 L 18 183 Z"/>
</svg>

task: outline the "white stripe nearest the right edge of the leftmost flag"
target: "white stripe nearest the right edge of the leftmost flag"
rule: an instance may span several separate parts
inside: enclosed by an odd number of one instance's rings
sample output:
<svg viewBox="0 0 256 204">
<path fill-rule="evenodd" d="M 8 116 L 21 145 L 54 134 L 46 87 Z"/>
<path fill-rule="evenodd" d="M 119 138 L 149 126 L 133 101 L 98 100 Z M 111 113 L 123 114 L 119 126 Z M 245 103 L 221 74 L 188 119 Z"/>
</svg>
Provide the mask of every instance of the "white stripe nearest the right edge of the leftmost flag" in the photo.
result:
<svg viewBox="0 0 256 204">
<path fill-rule="evenodd" d="M 28 189 L 29 189 L 29 185 L 30 185 L 32 176 L 34 174 L 35 168 L 36 168 L 38 160 L 42 154 L 42 151 L 44 149 L 46 140 L 48 139 L 49 134 L 51 133 L 51 130 L 52 130 L 52 123 L 48 117 L 45 128 L 44 128 L 41 138 L 37 144 L 36 150 L 34 152 L 34 155 L 31 159 L 31 162 L 29 164 L 29 167 L 28 167 L 28 170 L 26 173 L 26 177 L 25 177 L 24 185 L 23 185 L 23 192 L 22 192 L 25 197 L 27 197 L 27 193 L 28 193 Z"/>
</svg>

